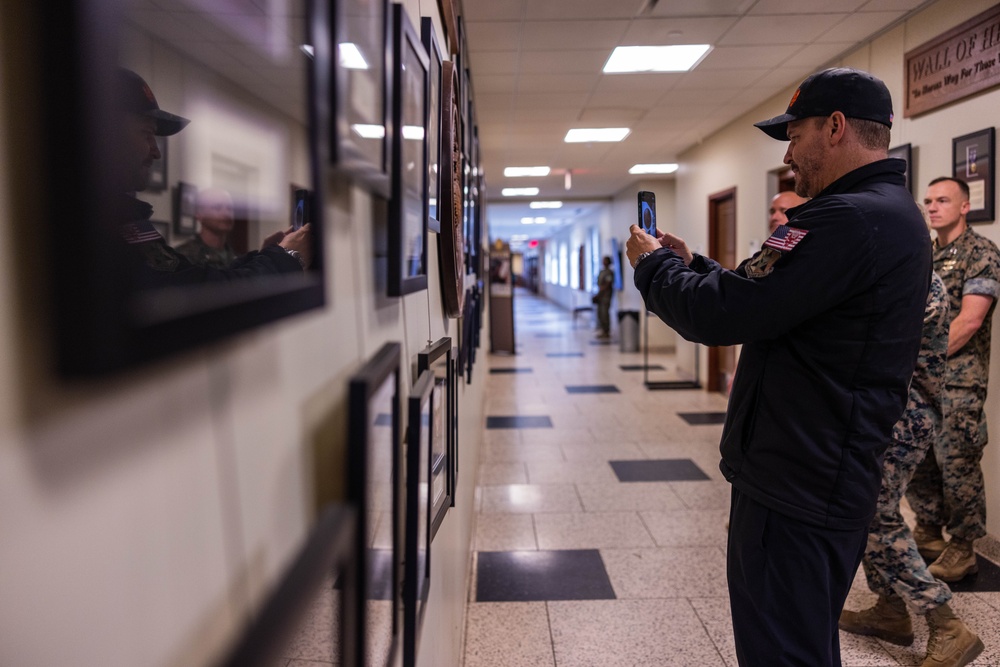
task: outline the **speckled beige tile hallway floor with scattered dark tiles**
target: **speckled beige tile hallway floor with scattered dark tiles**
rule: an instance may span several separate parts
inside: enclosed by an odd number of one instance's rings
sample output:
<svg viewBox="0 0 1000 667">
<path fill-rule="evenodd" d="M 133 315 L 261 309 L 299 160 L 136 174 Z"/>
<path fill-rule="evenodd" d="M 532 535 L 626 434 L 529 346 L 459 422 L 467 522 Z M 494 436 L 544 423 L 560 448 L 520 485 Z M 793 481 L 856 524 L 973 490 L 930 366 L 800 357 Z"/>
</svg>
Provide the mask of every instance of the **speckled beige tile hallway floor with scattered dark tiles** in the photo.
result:
<svg viewBox="0 0 1000 667">
<path fill-rule="evenodd" d="M 736 667 L 725 398 L 648 390 L 641 353 L 585 318 L 523 291 L 515 308 L 518 353 L 487 357 L 465 667 Z M 1000 545 L 979 548 L 953 607 L 986 643 L 973 664 L 1000 665 Z M 848 607 L 873 601 L 859 571 Z M 843 664 L 919 665 L 916 632 L 909 648 L 842 633 Z"/>
</svg>

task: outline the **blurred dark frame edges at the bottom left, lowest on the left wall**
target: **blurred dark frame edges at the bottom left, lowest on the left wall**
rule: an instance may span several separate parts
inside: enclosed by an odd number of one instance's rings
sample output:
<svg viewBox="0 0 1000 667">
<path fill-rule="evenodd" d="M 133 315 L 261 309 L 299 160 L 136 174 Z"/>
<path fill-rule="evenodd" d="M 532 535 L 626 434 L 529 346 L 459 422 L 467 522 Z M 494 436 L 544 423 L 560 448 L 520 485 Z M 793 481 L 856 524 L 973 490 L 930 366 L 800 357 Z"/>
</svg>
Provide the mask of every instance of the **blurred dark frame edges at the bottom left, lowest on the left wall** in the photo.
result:
<svg viewBox="0 0 1000 667">
<path fill-rule="evenodd" d="M 282 575 L 260 612 L 221 663 L 222 667 L 273 667 L 294 639 L 298 624 L 308 614 L 320 587 L 333 573 L 339 604 L 333 614 L 339 619 L 332 639 L 336 664 L 360 665 L 357 654 L 358 628 L 363 617 L 354 614 L 357 600 L 357 516 L 352 508 L 332 505 L 313 526 L 295 560 Z M 337 650 L 339 649 L 339 651 Z"/>
</svg>

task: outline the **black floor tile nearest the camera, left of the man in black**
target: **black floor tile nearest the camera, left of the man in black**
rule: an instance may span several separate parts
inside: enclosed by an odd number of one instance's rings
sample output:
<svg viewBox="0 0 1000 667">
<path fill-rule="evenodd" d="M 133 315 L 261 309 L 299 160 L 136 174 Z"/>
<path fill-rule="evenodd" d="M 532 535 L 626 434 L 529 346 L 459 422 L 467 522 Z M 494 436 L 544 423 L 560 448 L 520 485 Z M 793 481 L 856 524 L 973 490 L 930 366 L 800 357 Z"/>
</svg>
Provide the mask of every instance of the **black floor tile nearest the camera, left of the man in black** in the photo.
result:
<svg viewBox="0 0 1000 667">
<path fill-rule="evenodd" d="M 476 581 L 477 602 L 615 599 L 597 549 L 481 551 Z"/>
</svg>

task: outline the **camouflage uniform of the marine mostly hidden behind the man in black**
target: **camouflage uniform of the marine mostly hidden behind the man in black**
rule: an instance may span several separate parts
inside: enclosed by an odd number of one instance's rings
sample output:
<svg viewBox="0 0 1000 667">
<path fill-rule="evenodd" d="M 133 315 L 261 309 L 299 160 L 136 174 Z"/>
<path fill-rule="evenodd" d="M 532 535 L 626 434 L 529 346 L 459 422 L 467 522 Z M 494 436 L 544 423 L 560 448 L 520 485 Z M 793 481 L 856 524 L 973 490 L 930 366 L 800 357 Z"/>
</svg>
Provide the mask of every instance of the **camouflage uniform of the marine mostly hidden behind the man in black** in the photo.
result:
<svg viewBox="0 0 1000 667">
<path fill-rule="evenodd" d="M 893 427 L 892 441 L 885 452 L 882 490 L 862 560 L 868 588 L 880 596 L 900 597 L 920 614 L 948 602 L 951 590 L 927 571 L 899 503 L 914 471 L 940 433 L 950 322 L 948 295 L 941 278 L 934 274 L 906 411 Z"/>
</svg>

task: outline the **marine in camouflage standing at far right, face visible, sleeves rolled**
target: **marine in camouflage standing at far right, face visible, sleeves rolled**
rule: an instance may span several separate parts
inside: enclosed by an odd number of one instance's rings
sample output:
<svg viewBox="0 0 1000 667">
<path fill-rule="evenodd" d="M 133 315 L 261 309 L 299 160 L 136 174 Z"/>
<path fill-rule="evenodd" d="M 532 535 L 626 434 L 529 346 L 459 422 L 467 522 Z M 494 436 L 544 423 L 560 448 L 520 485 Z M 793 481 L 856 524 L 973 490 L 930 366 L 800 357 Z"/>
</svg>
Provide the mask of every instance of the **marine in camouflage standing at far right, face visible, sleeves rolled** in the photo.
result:
<svg viewBox="0 0 1000 667">
<path fill-rule="evenodd" d="M 969 186 L 957 178 L 931 181 L 924 208 L 934 240 L 934 270 L 951 307 L 944 428 L 918 466 L 906 498 L 917 517 L 914 537 L 930 572 L 960 581 L 978 570 L 975 540 L 986 535 L 986 494 L 980 461 L 987 442 L 986 384 L 990 329 L 1000 295 L 1000 251 L 968 226 Z M 945 541 L 942 527 L 951 536 Z"/>
</svg>

